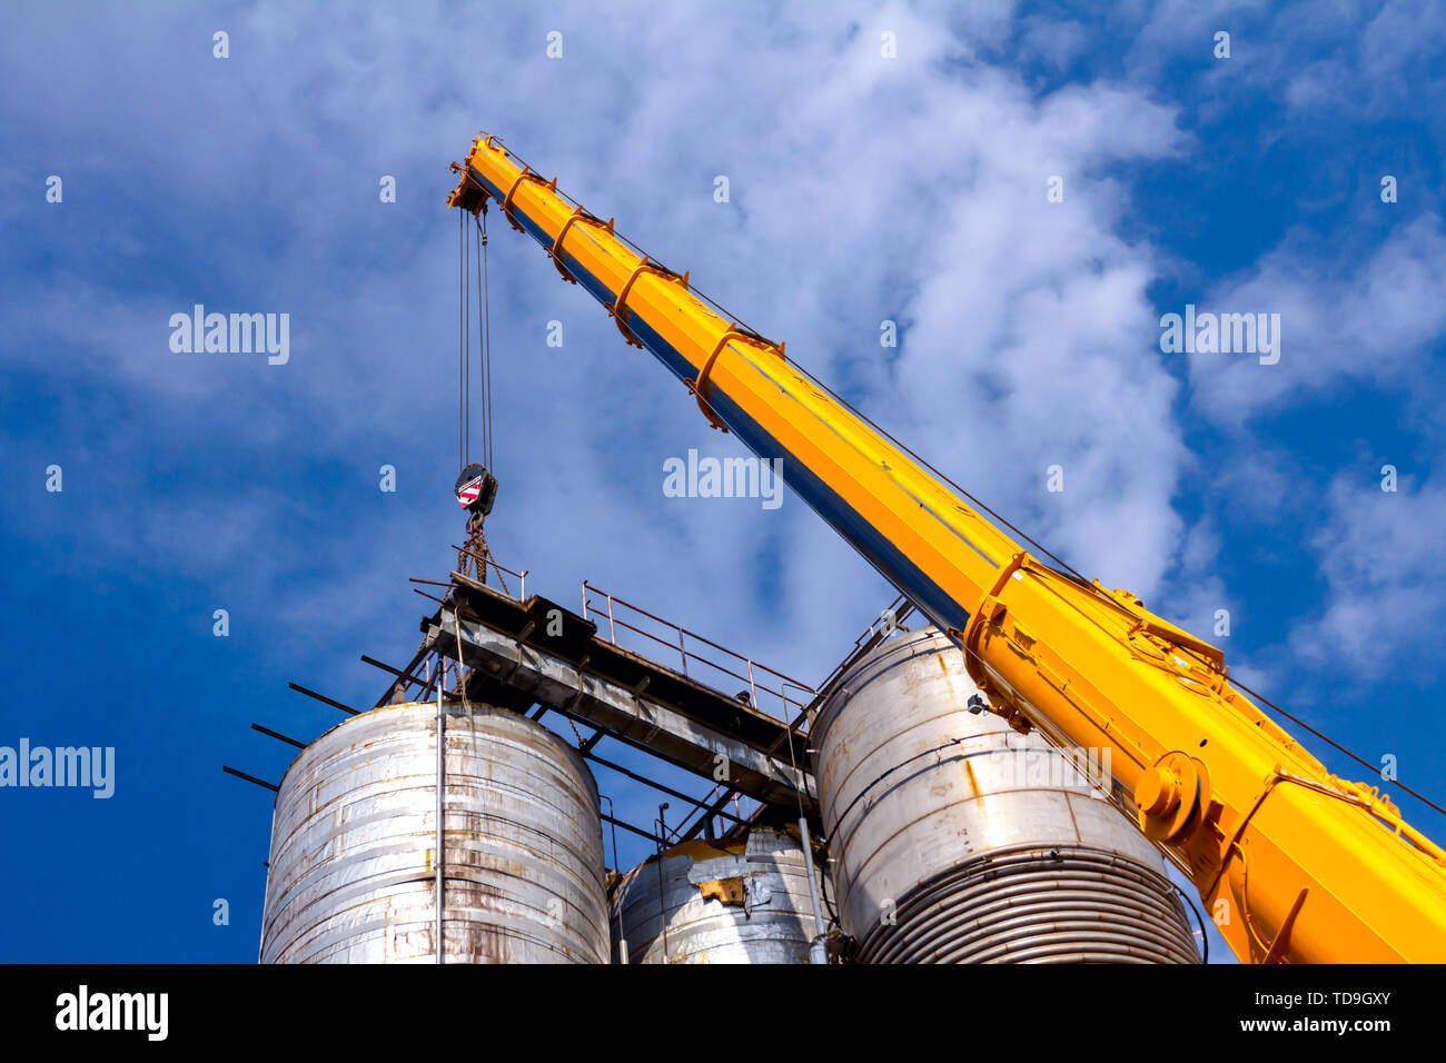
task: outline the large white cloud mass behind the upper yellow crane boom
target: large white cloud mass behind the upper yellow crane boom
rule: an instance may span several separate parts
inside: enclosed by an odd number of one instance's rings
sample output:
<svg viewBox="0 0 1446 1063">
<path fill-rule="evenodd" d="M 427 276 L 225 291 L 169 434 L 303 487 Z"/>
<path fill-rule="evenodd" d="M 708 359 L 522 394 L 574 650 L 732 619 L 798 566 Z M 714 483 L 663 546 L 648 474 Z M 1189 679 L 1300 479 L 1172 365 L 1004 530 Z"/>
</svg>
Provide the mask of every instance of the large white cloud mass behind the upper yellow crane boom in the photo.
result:
<svg viewBox="0 0 1446 1063">
<path fill-rule="evenodd" d="M 440 198 L 447 161 L 486 126 L 804 364 L 852 382 L 966 486 L 1079 564 L 1151 593 L 1180 544 L 1170 498 L 1181 447 L 1174 385 L 1141 343 L 1151 250 L 1113 236 L 1126 201 L 1111 168 L 1177 152 L 1181 137 L 1167 107 L 1129 88 L 1032 98 L 972 58 L 1001 40 L 999 9 L 950 19 L 953 35 L 902 4 L 852 20 L 454 12 L 454 46 L 438 49 L 435 20 L 412 10 L 338 20 L 263 6 L 233 32 L 228 67 L 208 49 L 187 58 L 194 26 L 117 23 L 107 62 L 80 64 L 48 120 L 98 130 L 110 172 L 149 188 L 133 205 L 149 224 L 172 202 L 192 227 L 228 233 L 188 255 L 218 282 L 38 288 L 56 330 L 84 323 L 75 331 L 97 354 L 82 357 L 101 380 L 161 409 L 204 399 L 207 437 L 234 461 L 250 447 L 283 453 L 289 437 L 296 461 L 370 467 L 380 453 L 409 483 L 435 480 L 414 534 L 445 541 L 455 237 Z M 564 33 L 562 61 L 544 55 L 549 29 Z M 897 59 L 879 54 L 885 29 Z M 155 39 L 194 71 L 189 93 L 152 80 Z M 388 214 L 382 172 L 398 175 L 403 204 L 422 205 Z M 720 172 L 729 205 L 711 198 Z M 1056 174 L 1061 205 L 1044 200 Z M 152 246 L 165 237 L 140 231 Z M 562 600 L 590 576 L 787 671 L 826 671 L 888 589 L 797 499 L 777 513 L 665 499 L 664 457 L 736 443 L 710 434 L 671 376 L 622 347 L 529 242 L 497 224 L 492 253 L 502 560 Z M 147 353 L 149 315 L 223 295 L 289 309 L 292 363 L 221 375 L 191 362 L 176 375 L 163 351 Z M 878 346 L 891 314 L 905 324 L 892 363 Z M 564 321 L 562 350 L 542 344 L 551 318 Z M 1043 490 L 1054 461 L 1064 496 Z M 357 568 L 340 552 L 356 542 L 312 564 L 343 587 L 422 574 L 412 551 L 405 567 L 363 551 Z M 230 560 L 247 548 L 233 541 Z M 279 593 L 291 596 L 281 615 L 304 616 L 295 599 L 317 592 Z"/>
</svg>

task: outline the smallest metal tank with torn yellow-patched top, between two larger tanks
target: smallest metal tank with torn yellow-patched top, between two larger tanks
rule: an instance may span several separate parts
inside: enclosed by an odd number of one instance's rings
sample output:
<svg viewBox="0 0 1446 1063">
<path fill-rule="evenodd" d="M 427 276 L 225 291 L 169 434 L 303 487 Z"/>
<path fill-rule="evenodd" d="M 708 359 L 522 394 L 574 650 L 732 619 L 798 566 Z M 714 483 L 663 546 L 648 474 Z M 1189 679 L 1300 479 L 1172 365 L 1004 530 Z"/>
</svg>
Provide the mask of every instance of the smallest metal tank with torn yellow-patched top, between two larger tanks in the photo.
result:
<svg viewBox="0 0 1446 1063">
<path fill-rule="evenodd" d="M 619 963 L 622 940 L 629 963 L 807 963 L 816 933 L 803 849 L 763 827 L 651 856 L 613 889 L 612 911 Z"/>
</svg>

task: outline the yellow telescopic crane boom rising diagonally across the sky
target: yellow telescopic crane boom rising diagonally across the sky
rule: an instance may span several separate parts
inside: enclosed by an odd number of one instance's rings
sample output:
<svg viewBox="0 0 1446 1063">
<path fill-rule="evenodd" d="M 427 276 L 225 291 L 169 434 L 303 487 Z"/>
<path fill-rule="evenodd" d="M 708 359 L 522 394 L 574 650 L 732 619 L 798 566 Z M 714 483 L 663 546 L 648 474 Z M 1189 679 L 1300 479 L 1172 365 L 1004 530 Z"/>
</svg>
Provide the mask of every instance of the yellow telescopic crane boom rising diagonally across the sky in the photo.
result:
<svg viewBox="0 0 1446 1063">
<path fill-rule="evenodd" d="M 1108 756 L 1115 798 L 1190 878 L 1242 960 L 1446 960 L 1446 853 L 1336 778 L 1132 594 L 1031 557 L 827 390 L 490 136 L 448 204 L 493 200 L 623 338 L 687 385 L 962 646 L 993 712 Z M 1096 752 L 1098 751 L 1098 752 Z"/>
</svg>

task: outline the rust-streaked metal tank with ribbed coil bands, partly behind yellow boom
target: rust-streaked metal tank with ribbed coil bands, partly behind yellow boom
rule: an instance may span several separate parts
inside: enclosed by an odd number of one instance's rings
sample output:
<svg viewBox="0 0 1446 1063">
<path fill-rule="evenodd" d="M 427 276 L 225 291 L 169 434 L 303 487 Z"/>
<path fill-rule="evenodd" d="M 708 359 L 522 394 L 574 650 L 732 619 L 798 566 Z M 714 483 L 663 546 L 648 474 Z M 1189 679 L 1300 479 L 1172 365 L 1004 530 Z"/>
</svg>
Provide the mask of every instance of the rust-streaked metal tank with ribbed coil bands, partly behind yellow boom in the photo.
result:
<svg viewBox="0 0 1446 1063">
<path fill-rule="evenodd" d="M 840 680 L 813 726 L 830 871 L 866 963 L 1199 963 L 1164 859 L 937 629 Z"/>
</svg>

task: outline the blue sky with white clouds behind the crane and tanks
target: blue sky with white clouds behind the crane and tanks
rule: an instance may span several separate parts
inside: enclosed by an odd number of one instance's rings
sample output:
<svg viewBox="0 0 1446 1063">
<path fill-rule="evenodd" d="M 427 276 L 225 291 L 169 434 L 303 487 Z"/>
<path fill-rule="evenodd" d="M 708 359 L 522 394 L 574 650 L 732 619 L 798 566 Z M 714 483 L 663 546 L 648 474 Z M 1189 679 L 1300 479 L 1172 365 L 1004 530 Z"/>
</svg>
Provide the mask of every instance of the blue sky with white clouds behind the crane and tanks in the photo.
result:
<svg viewBox="0 0 1446 1063">
<path fill-rule="evenodd" d="M 1112 10 L 6 10 L 0 745 L 117 778 L 0 791 L 0 959 L 254 959 L 270 801 L 218 765 L 279 778 L 252 720 L 335 723 L 288 680 L 375 700 L 359 654 L 409 657 L 406 579 L 460 534 L 442 197 L 479 129 L 1076 567 L 1206 635 L 1228 609 L 1238 674 L 1439 798 L 1446 14 Z M 664 460 L 736 443 L 503 226 L 492 269 L 499 558 L 821 678 L 891 590 L 791 496 L 667 498 Z M 289 314 L 289 362 L 172 353 L 197 302 Z M 1280 362 L 1161 351 L 1186 304 L 1281 314 Z"/>
</svg>

